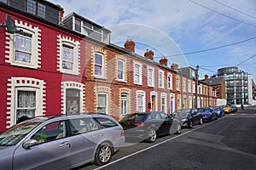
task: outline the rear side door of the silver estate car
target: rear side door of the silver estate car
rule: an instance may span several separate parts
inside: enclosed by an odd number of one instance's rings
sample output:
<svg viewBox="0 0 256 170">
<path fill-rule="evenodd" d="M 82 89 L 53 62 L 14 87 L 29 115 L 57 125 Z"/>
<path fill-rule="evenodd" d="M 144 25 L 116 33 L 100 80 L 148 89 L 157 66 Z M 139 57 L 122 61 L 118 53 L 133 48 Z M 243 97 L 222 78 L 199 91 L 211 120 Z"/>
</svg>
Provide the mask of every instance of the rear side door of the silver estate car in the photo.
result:
<svg viewBox="0 0 256 170">
<path fill-rule="evenodd" d="M 97 145 L 102 139 L 103 130 L 92 118 L 75 118 L 69 120 L 71 136 L 70 161 L 81 165 L 94 160 Z"/>
</svg>

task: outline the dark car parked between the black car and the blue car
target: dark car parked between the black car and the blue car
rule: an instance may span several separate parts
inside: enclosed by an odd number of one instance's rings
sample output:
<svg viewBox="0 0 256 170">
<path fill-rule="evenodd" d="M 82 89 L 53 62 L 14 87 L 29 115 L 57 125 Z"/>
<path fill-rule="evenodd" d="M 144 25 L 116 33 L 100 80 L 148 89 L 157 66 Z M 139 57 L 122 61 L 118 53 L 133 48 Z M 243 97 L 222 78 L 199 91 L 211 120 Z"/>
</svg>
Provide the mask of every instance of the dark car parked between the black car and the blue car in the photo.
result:
<svg viewBox="0 0 256 170">
<path fill-rule="evenodd" d="M 192 128 L 195 124 L 202 124 L 202 115 L 196 109 L 183 109 L 173 112 L 173 116 L 178 119 L 183 127 Z"/>
</svg>

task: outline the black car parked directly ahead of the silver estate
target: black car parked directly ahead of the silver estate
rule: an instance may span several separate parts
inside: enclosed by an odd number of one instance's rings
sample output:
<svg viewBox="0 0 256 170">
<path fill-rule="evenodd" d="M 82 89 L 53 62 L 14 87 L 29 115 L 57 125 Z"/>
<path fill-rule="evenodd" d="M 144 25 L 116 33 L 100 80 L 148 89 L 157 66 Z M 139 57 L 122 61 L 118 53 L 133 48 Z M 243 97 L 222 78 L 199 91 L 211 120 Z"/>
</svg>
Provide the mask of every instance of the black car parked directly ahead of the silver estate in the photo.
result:
<svg viewBox="0 0 256 170">
<path fill-rule="evenodd" d="M 136 138 L 154 143 L 157 136 L 181 133 L 181 122 L 164 112 L 134 113 L 123 117 L 120 124 L 125 129 L 125 138 Z"/>
</svg>

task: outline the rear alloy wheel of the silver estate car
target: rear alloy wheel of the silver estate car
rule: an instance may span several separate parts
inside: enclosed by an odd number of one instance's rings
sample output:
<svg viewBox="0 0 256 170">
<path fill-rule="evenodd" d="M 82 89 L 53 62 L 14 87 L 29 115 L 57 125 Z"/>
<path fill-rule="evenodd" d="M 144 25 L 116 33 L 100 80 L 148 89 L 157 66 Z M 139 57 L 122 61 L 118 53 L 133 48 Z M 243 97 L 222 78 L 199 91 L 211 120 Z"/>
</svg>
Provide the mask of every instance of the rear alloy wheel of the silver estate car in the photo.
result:
<svg viewBox="0 0 256 170">
<path fill-rule="evenodd" d="M 112 146 L 108 143 L 103 143 L 96 150 L 94 163 L 97 165 L 105 165 L 110 161 L 112 155 Z"/>
</svg>

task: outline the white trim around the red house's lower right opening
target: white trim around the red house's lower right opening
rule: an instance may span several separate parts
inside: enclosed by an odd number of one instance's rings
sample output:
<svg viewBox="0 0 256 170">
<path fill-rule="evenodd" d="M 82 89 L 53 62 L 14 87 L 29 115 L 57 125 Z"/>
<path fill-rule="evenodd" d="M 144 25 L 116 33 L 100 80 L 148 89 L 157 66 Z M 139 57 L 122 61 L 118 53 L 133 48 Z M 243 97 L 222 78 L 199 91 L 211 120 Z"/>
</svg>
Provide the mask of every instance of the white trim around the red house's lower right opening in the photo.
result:
<svg viewBox="0 0 256 170">
<path fill-rule="evenodd" d="M 67 88 L 74 88 L 79 90 L 80 92 L 80 112 L 85 111 L 85 86 L 80 82 L 61 82 L 61 114 L 65 115 L 67 108 L 66 108 L 66 99 L 67 99 Z"/>
</svg>

